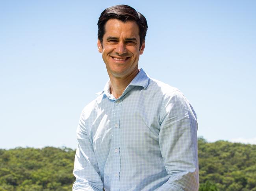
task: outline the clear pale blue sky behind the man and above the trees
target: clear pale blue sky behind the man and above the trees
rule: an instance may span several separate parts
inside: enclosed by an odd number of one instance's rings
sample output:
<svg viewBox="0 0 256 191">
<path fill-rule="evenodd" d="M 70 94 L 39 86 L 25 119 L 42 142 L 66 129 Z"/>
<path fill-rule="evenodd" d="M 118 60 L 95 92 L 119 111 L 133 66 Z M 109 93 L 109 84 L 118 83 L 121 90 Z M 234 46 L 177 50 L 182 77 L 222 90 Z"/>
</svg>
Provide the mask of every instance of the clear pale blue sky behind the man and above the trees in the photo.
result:
<svg viewBox="0 0 256 191">
<path fill-rule="evenodd" d="M 83 107 L 108 75 L 97 20 L 128 4 L 148 21 L 139 60 L 178 87 L 198 136 L 256 144 L 255 1 L 0 1 L 0 148 L 76 148 Z"/>
</svg>

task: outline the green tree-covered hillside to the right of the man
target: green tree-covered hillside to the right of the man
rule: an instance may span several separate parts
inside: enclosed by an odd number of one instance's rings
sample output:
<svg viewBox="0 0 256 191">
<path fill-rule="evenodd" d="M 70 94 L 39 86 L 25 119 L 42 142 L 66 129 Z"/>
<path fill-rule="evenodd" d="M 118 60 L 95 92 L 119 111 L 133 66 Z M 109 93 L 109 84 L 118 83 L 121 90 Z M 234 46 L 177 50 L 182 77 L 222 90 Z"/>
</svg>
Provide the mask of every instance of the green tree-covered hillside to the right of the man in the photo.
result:
<svg viewBox="0 0 256 191">
<path fill-rule="evenodd" d="M 256 145 L 198 138 L 199 191 L 256 190 Z"/>
</svg>

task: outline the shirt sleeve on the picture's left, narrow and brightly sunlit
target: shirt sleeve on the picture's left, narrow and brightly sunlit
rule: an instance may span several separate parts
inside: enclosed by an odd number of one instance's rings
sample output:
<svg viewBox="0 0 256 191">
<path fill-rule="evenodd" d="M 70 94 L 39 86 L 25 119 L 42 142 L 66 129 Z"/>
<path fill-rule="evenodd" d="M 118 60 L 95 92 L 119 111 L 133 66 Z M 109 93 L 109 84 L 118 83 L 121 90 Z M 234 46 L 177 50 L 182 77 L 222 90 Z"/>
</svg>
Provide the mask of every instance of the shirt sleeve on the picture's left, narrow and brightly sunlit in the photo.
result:
<svg viewBox="0 0 256 191">
<path fill-rule="evenodd" d="M 82 112 L 77 128 L 78 147 L 73 171 L 76 181 L 73 184 L 73 191 L 102 191 L 103 184 L 98 162 L 87 131 L 84 112 Z"/>
</svg>

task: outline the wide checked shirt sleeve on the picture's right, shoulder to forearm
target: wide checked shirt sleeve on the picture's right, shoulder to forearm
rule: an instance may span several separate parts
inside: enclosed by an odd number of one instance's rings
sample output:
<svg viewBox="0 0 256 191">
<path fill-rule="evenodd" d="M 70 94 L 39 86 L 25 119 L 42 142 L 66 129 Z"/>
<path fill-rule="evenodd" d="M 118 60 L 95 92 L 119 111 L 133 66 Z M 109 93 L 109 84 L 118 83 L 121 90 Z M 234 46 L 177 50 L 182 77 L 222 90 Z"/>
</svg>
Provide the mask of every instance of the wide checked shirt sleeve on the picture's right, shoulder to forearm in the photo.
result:
<svg viewBox="0 0 256 191">
<path fill-rule="evenodd" d="M 157 191 L 198 191 L 197 118 L 180 91 L 164 99 L 159 144 L 169 180 Z"/>
</svg>

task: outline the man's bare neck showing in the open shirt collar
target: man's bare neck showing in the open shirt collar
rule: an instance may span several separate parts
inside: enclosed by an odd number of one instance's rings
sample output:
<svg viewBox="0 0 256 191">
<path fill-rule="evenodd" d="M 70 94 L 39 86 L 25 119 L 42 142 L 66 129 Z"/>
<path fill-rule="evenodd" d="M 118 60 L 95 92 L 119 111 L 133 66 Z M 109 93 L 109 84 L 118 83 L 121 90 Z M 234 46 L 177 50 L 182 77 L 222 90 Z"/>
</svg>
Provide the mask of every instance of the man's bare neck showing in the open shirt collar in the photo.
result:
<svg viewBox="0 0 256 191">
<path fill-rule="evenodd" d="M 139 73 L 139 69 L 136 69 L 132 73 L 130 73 L 128 76 L 125 76 L 123 78 L 109 75 L 110 82 L 111 82 L 110 93 L 115 98 L 119 98 L 124 92 L 127 85 L 130 84 L 130 82 L 132 82 L 132 80 L 138 73 Z"/>
</svg>

